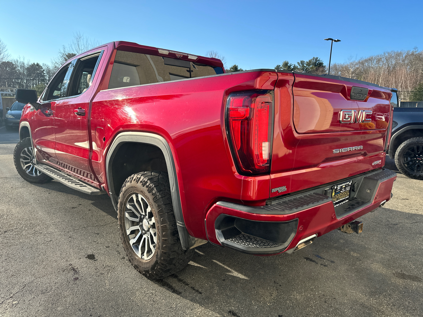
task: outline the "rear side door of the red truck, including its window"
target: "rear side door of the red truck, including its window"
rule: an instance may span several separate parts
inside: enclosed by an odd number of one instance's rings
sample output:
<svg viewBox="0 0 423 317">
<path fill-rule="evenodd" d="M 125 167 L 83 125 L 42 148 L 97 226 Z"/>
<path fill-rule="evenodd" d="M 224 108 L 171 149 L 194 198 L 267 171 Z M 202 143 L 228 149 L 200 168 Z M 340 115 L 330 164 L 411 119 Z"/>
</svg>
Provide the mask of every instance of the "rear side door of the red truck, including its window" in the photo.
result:
<svg viewBox="0 0 423 317">
<path fill-rule="evenodd" d="M 94 180 L 88 165 L 88 111 L 91 81 L 101 52 L 73 60 L 66 74 L 66 98 L 55 101 L 55 155 L 58 165 L 88 180 Z"/>
</svg>

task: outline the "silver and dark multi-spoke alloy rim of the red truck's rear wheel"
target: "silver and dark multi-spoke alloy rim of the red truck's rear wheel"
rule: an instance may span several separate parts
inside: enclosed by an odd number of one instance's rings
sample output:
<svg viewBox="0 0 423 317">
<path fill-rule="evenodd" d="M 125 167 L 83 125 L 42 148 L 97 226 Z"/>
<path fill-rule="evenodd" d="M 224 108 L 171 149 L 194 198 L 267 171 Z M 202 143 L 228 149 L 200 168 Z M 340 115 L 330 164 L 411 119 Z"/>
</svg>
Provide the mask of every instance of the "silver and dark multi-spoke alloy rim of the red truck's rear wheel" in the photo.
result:
<svg viewBox="0 0 423 317">
<path fill-rule="evenodd" d="M 125 229 L 135 254 L 150 260 L 156 251 L 156 219 L 147 200 L 140 194 L 132 194 L 126 203 Z"/>
</svg>

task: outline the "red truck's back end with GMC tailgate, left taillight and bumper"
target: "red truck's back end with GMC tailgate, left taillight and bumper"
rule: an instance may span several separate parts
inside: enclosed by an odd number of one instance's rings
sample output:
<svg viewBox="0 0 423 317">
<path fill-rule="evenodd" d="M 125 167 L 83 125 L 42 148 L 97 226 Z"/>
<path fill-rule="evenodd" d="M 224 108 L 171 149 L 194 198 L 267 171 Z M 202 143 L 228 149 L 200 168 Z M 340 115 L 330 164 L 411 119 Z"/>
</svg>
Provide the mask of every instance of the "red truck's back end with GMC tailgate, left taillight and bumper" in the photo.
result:
<svg viewBox="0 0 423 317">
<path fill-rule="evenodd" d="M 265 202 L 216 202 L 212 243 L 249 254 L 291 253 L 391 198 L 396 173 L 382 167 L 391 129 L 390 90 L 329 75 L 277 72 L 273 90 L 231 93 L 225 130 L 236 170 L 269 175 Z M 262 175 L 262 176 L 261 176 Z"/>
</svg>

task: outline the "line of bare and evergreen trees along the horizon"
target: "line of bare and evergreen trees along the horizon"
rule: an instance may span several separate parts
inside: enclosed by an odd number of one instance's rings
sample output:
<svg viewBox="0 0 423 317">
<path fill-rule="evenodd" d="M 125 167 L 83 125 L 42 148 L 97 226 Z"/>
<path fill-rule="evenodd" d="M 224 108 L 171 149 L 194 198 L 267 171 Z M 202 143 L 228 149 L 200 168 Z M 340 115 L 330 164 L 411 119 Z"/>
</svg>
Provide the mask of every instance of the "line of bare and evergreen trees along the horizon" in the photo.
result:
<svg viewBox="0 0 423 317">
<path fill-rule="evenodd" d="M 97 41 L 91 41 L 77 32 L 71 43 L 63 45 L 50 64 L 40 64 L 25 60 L 24 57 L 11 59 L 6 45 L 0 39 L 0 87 L 35 89 L 41 94 L 63 63 L 98 45 Z M 209 51 L 206 56 L 219 58 L 226 68 L 225 57 L 218 52 Z M 327 74 L 327 66 L 319 57 L 312 57 L 307 61 L 300 60 L 297 63 L 285 60 L 282 64 L 276 65 L 275 69 Z M 226 68 L 226 71 L 235 72 L 243 69 L 234 64 Z M 399 98 L 403 101 L 423 100 L 423 51 L 417 48 L 384 52 L 358 60 L 349 58 L 345 63 L 333 63 L 330 74 L 372 82 L 382 87 L 397 88 Z"/>
</svg>

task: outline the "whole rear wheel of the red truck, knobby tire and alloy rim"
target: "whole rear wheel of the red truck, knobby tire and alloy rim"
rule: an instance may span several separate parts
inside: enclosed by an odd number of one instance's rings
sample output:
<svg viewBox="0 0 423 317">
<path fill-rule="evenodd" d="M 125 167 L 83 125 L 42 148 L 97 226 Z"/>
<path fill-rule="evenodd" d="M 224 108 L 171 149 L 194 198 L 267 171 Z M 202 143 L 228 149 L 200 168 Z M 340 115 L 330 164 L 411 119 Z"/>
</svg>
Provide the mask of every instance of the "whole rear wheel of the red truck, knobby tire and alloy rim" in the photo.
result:
<svg viewBox="0 0 423 317">
<path fill-rule="evenodd" d="M 182 249 L 166 172 L 140 172 L 125 180 L 118 223 L 129 261 L 148 279 L 169 276 L 190 262 L 194 250 Z"/>
</svg>

